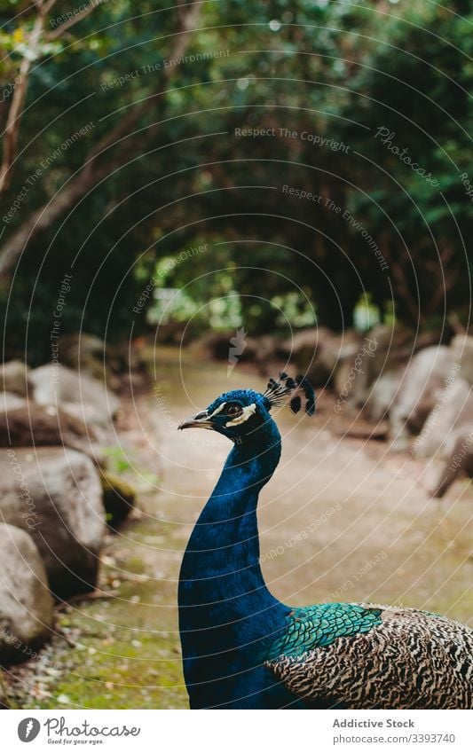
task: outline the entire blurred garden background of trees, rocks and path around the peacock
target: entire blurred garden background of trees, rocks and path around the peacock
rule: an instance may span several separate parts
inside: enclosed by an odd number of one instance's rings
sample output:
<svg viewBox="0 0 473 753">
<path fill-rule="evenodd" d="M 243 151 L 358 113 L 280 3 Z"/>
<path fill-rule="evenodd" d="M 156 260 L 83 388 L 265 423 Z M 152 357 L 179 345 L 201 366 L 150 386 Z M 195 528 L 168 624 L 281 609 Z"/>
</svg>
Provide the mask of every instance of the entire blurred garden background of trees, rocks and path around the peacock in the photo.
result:
<svg viewBox="0 0 473 753">
<path fill-rule="evenodd" d="M 279 417 L 272 591 L 471 622 L 472 24 L 0 0 L 5 706 L 185 707 L 178 568 L 228 448 L 175 429 L 280 369 L 319 413 Z"/>
</svg>

